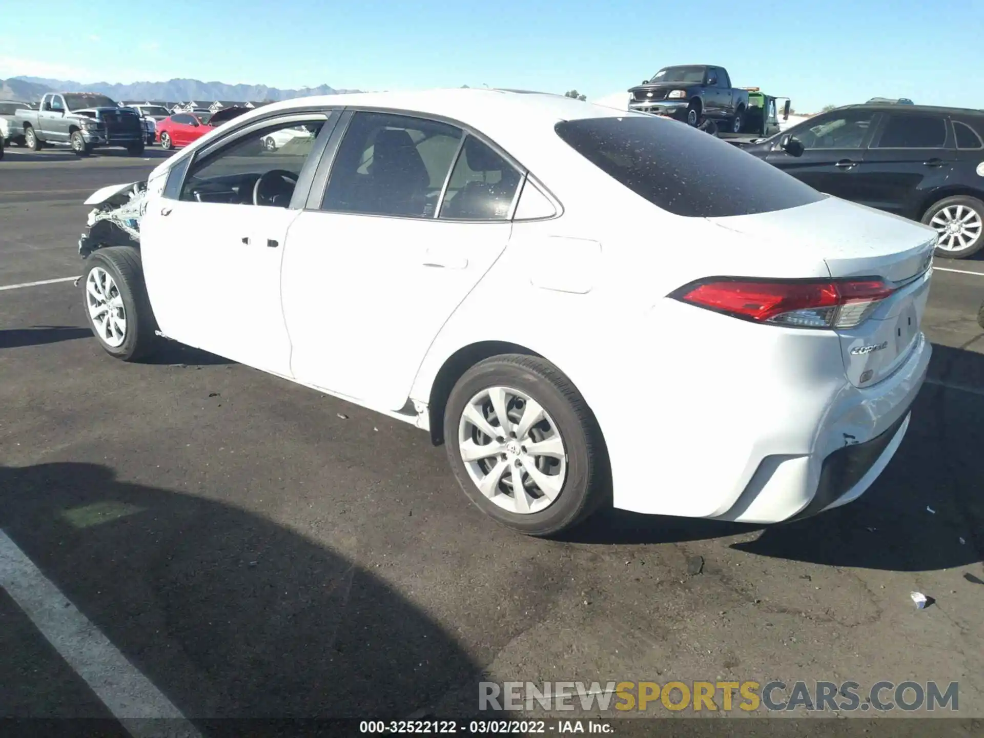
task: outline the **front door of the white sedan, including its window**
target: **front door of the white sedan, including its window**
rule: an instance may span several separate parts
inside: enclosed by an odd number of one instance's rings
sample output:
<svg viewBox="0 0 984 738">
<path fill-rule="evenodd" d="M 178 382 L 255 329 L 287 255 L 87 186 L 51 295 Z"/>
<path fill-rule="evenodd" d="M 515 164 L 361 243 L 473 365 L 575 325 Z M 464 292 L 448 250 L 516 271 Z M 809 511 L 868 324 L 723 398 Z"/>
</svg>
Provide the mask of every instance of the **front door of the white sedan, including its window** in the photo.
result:
<svg viewBox="0 0 984 738">
<path fill-rule="evenodd" d="M 320 134 L 329 119 L 295 113 L 253 122 L 172 169 L 141 223 L 148 293 L 165 336 L 290 376 L 280 266 L 300 212 L 291 201 L 295 192 L 306 195 L 317 139 L 277 153 L 262 141 L 299 123 Z M 304 199 L 298 194 L 298 203 Z"/>
</svg>

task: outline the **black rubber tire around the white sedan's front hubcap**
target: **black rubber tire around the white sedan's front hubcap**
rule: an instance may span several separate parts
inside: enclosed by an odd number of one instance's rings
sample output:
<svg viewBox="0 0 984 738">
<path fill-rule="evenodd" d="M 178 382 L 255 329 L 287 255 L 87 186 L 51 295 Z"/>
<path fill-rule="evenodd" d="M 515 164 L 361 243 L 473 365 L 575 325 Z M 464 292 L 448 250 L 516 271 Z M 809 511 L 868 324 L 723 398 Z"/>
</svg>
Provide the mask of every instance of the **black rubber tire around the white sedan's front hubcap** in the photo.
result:
<svg viewBox="0 0 984 738">
<path fill-rule="evenodd" d="M 119 346 L 111 346 L 99 337 L 99 331 L 89 311 L 87 285 L 89 276 L 96 267 L 105 270 L 113 278 L 119 296 L 123 300 L 126 332 Z M 157 343 L 154 331 L 157 326 L 151 301 L 144 286 L 144 269 L 137 249 L 132 246 L 106 246 L 93 251 L 92 256 L 86 260 L 86 272 L 82 276 L 81 284 L 86 320 L 89 321 L 92 335 L 106 353 L 123 361 L 136 361 L 154 350 Z"/>
</svg>

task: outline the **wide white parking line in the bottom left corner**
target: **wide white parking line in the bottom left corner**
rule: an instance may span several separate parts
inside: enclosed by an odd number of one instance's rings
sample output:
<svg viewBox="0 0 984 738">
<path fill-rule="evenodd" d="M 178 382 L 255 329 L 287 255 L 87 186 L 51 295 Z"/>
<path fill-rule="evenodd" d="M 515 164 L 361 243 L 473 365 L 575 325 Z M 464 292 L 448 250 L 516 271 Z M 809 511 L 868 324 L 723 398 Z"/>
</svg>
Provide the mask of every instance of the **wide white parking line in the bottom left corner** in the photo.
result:
<svg viewBox="0 0 984 738">
<path fill-rule="evenodd" d="M 0 586 L 131 735 L 201 738 L 181 711 L 41 574 L 3 530 Z"/>
</svg>

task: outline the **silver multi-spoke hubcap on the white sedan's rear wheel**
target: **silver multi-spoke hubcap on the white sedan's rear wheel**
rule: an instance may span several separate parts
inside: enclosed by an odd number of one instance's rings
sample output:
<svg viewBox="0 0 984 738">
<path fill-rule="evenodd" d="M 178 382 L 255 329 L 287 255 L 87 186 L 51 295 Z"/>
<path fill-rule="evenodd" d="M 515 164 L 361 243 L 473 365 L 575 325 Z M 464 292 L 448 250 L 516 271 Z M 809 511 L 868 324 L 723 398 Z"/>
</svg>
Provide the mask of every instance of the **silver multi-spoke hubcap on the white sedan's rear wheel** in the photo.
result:
<svg viewBox="0 0 984 738">
<path fill-rule="evenodd" d="M 458 440 L 471 481 L 503 510 L 539 513 L 564 488 L 564 439 L 549 413 L 519 390 L 491 387 L 468 400 Z"/>
</svg>

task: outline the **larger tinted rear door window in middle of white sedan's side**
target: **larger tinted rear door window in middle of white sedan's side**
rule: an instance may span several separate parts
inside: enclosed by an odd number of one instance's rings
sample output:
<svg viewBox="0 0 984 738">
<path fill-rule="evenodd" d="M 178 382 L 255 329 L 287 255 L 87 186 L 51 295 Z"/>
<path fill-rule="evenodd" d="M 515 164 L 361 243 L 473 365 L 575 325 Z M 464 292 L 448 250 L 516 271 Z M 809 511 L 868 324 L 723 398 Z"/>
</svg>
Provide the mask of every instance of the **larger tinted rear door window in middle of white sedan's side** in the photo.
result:
<svg viewBox="0 0 984 738">
<path fill-rule="evenodd" d="M 356 112 L 332 164 L 322 210 L 433 217 L 462 135 L 434 120 Z"/>
</svg>

